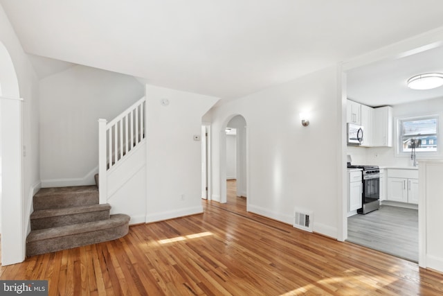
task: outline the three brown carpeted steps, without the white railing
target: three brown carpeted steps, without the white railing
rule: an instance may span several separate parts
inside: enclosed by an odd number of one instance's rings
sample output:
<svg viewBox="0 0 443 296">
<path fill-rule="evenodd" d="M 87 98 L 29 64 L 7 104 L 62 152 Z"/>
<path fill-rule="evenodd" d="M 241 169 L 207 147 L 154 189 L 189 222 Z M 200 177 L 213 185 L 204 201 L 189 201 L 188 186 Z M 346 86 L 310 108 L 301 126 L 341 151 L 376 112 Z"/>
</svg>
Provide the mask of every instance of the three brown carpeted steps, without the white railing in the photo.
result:
<svg viewBox="0 0 443 296">
<path fill-rule="evenodd" d="M 99 204 L 97 186 L 40 189 L 30 215 L 26 256 L 102 243 L 129 232 L 129 216 L 110 215 L 109 204 Z"/>
</svg>

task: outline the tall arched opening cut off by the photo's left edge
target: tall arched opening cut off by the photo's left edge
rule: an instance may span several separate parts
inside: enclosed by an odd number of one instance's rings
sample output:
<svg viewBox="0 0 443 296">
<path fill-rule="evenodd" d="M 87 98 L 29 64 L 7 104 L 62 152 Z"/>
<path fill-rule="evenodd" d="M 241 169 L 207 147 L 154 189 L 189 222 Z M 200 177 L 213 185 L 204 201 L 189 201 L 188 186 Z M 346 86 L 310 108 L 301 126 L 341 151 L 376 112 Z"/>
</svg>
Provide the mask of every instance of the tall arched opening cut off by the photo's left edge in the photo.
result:
<svg viewBox="0 0 443 296">
<path fill-rule="evenodd" d="M 14 64 L 0 42 L 1 264 L 24 261 L 21 98 Z"/>
</svg>

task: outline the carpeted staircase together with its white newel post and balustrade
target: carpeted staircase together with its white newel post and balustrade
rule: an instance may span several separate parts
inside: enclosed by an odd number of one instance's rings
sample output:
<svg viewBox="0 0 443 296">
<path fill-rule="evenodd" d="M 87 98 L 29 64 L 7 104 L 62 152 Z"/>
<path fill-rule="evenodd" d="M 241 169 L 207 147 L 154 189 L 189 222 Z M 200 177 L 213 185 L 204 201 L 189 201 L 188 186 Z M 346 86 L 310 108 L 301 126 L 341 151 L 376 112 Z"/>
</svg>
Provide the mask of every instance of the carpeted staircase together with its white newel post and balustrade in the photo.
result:
<svg viewBox="0 0 443 296">
<path fill-rule="evenodd" d="M 143 97 L 109 123 L 99 119 L 99 174 L 94 176 L 97 186 L 44 188 L 37 192 L 26 256 L 112 241 L 129 232 L 129 216 L 109 214 L 107 179 L 110 171 L 115 173 L 118 164 L 125 163 L 127 156 L 145 142 L 145 104 Z"/>
</svg>

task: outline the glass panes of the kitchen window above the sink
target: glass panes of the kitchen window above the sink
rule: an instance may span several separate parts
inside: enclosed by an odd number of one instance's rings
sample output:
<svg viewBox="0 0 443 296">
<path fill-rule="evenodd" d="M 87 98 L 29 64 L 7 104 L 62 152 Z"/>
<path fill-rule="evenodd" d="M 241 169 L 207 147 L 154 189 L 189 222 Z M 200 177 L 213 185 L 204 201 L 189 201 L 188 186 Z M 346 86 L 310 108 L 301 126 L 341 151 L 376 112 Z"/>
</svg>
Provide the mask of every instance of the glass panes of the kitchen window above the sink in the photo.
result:
<svg viewBox="0 0 443 296">
<path fill-rule="evenodd" d="M 399 136 L 400 153 L 437 151 L 438 116 L 400 119 Z"/>
</svg>

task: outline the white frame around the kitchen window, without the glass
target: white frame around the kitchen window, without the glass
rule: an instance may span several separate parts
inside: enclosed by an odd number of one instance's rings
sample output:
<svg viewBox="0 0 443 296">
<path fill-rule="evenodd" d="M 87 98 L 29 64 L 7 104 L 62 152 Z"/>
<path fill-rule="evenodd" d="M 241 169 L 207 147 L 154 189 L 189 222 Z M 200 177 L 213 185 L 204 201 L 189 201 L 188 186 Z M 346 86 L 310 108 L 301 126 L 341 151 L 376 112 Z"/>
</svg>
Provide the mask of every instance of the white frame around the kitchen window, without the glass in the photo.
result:
<svg viewBox="0 0 443 296">
<path fill-rule="evenodd" d="M 419 121 L 425 119 L 436 119 L 437 120 L 437 150 L 436 151 L 416 151 L 417 158 L 418 157 L 437 157 L 440 155 L 440 151 L 442 151 L 442 135 L 440 134 L 440 114 L 431 114 L 431 115 L 422 115 L 422 116 L 404 116 L 396 119 L 396 135 L 395 135 L 395 145 L 397 148 L 395 149 L 396 156 L 402 157 L 410 157 L 410 151 L 402 151 L 401 147 L 403 146 L 402 134 L 401 134 L 401 122 L 402 121 Z"/>
</svg>

